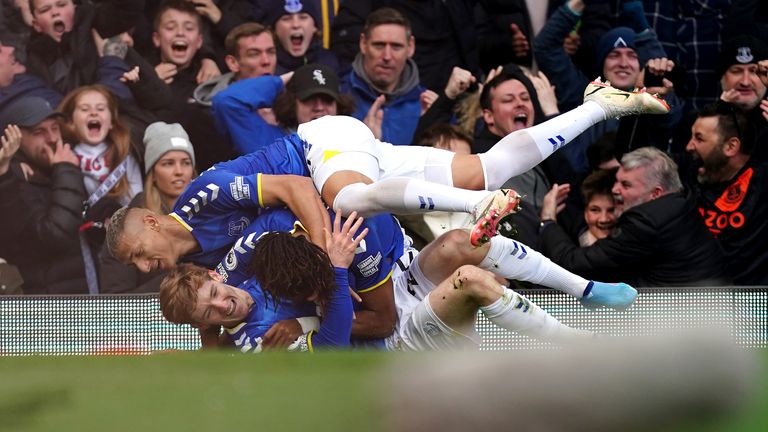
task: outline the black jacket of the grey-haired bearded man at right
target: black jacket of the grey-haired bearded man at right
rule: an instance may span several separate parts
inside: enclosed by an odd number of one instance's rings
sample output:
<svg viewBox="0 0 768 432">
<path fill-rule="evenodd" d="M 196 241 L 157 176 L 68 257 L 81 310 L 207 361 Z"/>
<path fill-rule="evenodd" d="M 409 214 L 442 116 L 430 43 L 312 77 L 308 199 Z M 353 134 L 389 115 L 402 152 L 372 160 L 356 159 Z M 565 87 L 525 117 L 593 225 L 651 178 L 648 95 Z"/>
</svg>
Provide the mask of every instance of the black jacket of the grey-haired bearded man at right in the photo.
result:
<svg viewBox="0 0 768 432">
<path fill-rule="evenodd" d="M 692 198 L 683 192 L 637 205 L 614 233 L 579 247 L 557 225 L 541 234 L 541 252 L 580 276 L 634 286 L 698 286 L 729 282 L 724 255 Z"/>
</svg>

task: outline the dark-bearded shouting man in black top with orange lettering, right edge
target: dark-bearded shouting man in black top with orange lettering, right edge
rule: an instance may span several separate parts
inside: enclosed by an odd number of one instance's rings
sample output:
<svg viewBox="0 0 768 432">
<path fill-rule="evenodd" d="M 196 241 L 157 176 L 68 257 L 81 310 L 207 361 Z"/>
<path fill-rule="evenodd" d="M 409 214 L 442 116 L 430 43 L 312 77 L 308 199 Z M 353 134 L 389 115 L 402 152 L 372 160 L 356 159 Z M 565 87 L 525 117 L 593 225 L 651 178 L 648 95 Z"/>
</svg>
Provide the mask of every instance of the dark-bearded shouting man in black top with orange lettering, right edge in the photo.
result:
<svg viewBox="0 0 768 432">
<path fill-rule="evenodd" d="M 699 112 L 685 148 L 697 166 L 699 211 L 737 285 L 768 284 L 768 164 L 751 156 L 754 148 L 745 113 L 722 101 Z"/>
</svg>

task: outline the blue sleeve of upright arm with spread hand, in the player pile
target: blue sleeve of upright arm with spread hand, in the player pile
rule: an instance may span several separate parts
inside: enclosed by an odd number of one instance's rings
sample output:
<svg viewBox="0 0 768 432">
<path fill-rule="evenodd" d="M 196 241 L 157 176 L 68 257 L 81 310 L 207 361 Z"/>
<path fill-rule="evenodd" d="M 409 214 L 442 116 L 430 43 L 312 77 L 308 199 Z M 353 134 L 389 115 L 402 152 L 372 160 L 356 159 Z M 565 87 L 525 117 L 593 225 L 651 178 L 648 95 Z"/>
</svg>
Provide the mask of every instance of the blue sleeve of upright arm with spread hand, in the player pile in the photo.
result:
<svg viewBox="0 0 768 432">
<path fill-rule="evenodd" d="M 336 290 L 317 331 L 307 335 L 309 351 L 320 347 L 346 347 L 352 335 L 352 299 L 349 296 L 347 269 L 335 268 Z"/>
</svg>

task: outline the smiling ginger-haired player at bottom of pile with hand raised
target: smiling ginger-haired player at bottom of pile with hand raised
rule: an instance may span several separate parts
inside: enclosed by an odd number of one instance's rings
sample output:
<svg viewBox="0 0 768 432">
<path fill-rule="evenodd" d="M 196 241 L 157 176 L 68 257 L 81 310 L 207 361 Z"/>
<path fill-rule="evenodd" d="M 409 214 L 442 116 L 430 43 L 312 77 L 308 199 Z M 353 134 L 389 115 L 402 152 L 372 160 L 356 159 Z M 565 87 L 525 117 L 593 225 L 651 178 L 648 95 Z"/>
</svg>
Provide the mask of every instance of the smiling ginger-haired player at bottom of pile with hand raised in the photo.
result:
<svg viewBox="0 0 768 432">
<path fill-rule="evenodd" d="M 362 219 L 356 219 L 354 214 L 343 225 L 340 221 L 337 216 L 332 232 L 324 230 L 325 251 L 287 232 L 265 232 L 259 238 L 266 244 L 275 237 L 295 243 L 291 249 L 300 250 L 297 257 L 305 259 L 300 262 L 289 259 L 283 265 L 301 268 L 300 274 L 306 279 L 296 282 L 312 284 L 317 288 L 314 295 L 294 302 L 270 302 L 254 278 L 235 287 L 225 284 L 219 273 L 194 264 L 182 264 L 161 284 L 163 315 L 169 321 L 198 328 L 223 326 L 224 333 L 208 346 L 234 345 L 244 353 L 261 352 L 272 325 L 285 319 L 301 323 L 302 329 L 286 341 L 290 343 L 289 351 L 312 352 L 315 348 L 348 346 L 353 312 L 347 268 L 369 231 L 360 230 Z M 319 298 L 323 301 L 316 306 L 312 300 Z M 323 316 L 322 324 L 315 317 L 316 307 Z"/>
</svg>

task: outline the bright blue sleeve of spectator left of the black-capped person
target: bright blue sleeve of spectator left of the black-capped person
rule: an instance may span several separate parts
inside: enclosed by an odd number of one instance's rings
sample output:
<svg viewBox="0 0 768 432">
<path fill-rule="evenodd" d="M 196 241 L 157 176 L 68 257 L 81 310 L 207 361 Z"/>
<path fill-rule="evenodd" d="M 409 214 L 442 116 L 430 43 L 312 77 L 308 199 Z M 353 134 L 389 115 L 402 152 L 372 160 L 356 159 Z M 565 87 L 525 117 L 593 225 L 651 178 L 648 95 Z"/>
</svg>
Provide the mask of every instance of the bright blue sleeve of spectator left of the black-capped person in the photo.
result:
<svg viewBox="0 0 768 432">
<path fill-rule="evenodd" d="M 239 154 L 247 154 L 285 135 L 256 112 L 272 106 L 283 89 L 280 77 L 247 78 L 230 84 L 213 97 L 211 110 L 216 128 Z"/>
</svg>

